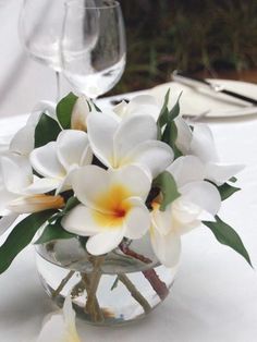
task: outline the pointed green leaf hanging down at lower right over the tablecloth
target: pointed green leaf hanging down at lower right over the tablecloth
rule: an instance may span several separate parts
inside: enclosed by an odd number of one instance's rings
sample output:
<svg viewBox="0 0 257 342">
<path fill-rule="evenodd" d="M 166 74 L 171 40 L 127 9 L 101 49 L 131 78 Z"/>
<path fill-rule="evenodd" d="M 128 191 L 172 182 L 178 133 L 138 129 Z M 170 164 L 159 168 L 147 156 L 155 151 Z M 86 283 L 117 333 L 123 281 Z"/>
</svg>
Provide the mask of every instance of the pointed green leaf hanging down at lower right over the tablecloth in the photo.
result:
<svg viewBox="0 0 257 342">
<path fill-rule="evenodd" d="M 253 267 L 250 262 L 249 255 L 245 249 L 245 246 L 238 236 L 238 234 L 233 230 L 232 227 L 223 222 L 218 216 L 216 216 L 216 222 L 203 221 L 203 223 L 208 227 L 216 239 L 223 245 L 227 245 L 242 255 L 246 261 Z"/>
</svg>

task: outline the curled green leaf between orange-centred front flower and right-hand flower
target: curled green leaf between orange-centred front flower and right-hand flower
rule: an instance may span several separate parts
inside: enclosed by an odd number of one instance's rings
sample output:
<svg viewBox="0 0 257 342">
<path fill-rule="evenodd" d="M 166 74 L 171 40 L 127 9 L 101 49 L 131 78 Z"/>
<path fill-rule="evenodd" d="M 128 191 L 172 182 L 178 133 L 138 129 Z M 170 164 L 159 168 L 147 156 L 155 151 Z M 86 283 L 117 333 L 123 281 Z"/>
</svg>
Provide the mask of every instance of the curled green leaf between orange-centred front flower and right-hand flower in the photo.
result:
<svg viewBox="0 0 257 342">
<path fill-rule="evenodd" d="M 154 181 L 154 186 L 159 187 L 162 193 L 163 199 L 160 205 L 160 210 L 164 211 L 166 207 L 173 200 L 179 198 L 181 194 L 178 191 L 176 183 L 172 174 L 168 171 L 162 172 Z"/>
</svg>

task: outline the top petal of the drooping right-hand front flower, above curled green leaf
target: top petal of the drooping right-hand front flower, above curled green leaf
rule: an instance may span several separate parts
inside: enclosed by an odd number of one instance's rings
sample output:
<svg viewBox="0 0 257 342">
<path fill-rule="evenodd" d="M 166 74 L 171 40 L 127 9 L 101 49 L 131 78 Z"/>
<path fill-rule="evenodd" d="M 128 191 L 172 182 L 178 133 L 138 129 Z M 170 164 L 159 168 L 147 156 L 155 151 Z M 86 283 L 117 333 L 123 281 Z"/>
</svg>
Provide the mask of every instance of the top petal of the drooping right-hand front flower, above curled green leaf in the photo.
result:
<svg viewBox="0 0 257 342">
<path fill-rule="evenodd" d="M 195 156 L 185 156 L 175 159 L 167 169 L 175 179 L 178 187 L 205 179 L 205 166 L 199 158 Z"/>
</svg>

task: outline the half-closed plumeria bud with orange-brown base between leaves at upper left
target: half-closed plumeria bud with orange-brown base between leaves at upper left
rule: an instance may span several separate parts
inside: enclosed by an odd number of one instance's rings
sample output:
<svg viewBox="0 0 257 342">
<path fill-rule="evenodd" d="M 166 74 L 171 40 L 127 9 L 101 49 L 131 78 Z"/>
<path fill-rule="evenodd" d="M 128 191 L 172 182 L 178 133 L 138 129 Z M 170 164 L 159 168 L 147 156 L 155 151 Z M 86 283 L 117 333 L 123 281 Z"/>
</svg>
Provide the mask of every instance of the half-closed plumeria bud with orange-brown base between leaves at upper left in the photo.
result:
<svg viewBox="0 0 257 342">
<path fill-rule="evenodd" d="M 85 95 L 81 95 L 72 110 L 71 129 L 87 131 L 87 118 L 90 113 L 95 113 L 96 109 L 91 100 Z"/>
</svg>

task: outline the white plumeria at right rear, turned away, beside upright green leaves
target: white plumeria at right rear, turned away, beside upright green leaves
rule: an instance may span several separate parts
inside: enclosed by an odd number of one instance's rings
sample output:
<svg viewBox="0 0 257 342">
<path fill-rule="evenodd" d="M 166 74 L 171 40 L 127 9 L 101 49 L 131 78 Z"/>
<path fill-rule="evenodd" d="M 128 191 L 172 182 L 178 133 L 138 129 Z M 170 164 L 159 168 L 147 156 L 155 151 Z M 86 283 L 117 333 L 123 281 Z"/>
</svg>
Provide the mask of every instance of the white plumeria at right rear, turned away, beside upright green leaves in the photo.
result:
<svg viewBox="0 0 257 342">
<path fill-rule="evenodd" d="M 182 118 L 176 118 L 175 123 L 179 133 L 176 146 L 183 155 L 193 155 L 201 160 L 205 164 L 205 179 L 221 185 L 244 168 L 219 161 L 212 133 L 206 124 L 195 124 L 192 132 Z"/>
</svg>

